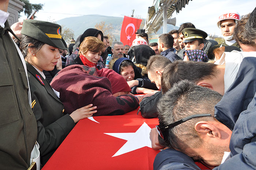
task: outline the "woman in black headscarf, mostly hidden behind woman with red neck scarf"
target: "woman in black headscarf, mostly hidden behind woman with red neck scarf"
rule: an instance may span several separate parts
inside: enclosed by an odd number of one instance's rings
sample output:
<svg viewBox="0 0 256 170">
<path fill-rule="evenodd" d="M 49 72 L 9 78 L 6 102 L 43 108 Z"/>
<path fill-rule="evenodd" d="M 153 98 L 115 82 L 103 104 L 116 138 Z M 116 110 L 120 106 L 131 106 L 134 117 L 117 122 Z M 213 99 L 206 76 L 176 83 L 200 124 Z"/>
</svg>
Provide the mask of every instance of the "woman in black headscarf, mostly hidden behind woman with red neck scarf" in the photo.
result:
<svg viewBox="0 0 256 170">
<path fill-rule="evenodd" d="M 78 54 L 79 53 L 79 46 L 83 42 L 84 38 L 86 38 L 86 37 L 97 37 L 98 39 L 100 39 L 103 42 L 103 33 L 102 33 L 102 31 L 97 30 L 97 29 L 93 29 L 93 28 L 85 30 L 84 33 L 82 35 L 80 35 L 79 37 L 78 37 L 78 39 L 76 39 L 76 42 L 79 42 L 79 43 L 77 43 L 77 46 L 76 45 L 74 46 L 74 49 L 75 49 L 74 52 L 70 56 L 68 56 L 68 58 L 66 60 L 65 67 L 67 67 L 68 65 L 72 65 L 74 63 L 74 60 L 77 57 L 79 57 L 79 54 Z M 98 61 L 98 69 L 102 69 L 104 67 L 105 66 L 104 66 L 104 63 L 103 63 L 103 59 L 102 59 L 102 57 L 100 57 L 100 59 Z"/>
</svg>

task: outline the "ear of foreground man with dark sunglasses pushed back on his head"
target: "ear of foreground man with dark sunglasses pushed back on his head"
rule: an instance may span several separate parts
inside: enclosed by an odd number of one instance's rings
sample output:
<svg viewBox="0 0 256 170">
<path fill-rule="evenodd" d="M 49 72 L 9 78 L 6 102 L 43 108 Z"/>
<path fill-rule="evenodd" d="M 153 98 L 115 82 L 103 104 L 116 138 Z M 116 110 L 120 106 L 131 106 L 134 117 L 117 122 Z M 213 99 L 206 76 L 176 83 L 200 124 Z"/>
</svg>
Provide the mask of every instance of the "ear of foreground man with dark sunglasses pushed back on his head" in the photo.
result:
<svg viewBox="0 0 256 170">
<path fill-rule="evenodd" d="M 199 121 L 195 124 L 195 130 L 202 137 L 218 137 L 221 138 L 219 129 L 208 121 Z"/>
</svg>

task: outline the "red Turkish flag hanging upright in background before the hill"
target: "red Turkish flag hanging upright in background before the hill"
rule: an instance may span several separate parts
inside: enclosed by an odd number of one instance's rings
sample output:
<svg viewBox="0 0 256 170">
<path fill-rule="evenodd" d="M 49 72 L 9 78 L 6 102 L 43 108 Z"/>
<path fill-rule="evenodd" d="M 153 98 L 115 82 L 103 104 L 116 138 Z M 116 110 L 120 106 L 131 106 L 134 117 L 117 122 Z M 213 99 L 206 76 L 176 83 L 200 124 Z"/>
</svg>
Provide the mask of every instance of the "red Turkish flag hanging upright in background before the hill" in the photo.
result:
<svg viewBox="0 0 256 170">
<path fill-rule="evenodd" d="M 136 31 L 140 28 L 142 19 L 124 16 L 123 25 L 121 29 L 120 41 L 124 45 L 132 45 L 132 41 L 136 38 Z"/>
</svg>

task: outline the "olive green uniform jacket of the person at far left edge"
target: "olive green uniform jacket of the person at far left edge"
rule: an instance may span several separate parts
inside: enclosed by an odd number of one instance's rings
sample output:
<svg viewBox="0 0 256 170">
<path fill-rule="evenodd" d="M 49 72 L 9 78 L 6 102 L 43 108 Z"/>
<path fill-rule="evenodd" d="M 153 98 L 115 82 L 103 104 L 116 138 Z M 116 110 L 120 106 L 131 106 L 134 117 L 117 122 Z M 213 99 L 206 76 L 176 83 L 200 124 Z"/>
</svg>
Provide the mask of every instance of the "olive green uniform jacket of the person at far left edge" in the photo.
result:
<svg viewBox="0 0 256 170">
<path fill-rule="evenodd" d="M 28 82 L 19 53 L 0 26 L 0 169 L 24 170 L 37 137 L 37 122 L 28 99 Z M 13 33 L 12 33 L 13 34 Z"/>
</svg>

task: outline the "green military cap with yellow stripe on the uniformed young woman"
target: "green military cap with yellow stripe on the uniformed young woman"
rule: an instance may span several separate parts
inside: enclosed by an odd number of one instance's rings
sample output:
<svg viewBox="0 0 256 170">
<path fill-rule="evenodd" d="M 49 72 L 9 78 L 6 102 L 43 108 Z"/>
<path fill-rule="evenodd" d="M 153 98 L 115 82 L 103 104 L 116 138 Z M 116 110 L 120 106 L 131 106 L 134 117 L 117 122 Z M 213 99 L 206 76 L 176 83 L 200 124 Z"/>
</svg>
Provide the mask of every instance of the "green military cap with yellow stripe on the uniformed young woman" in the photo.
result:
<svg viewBox="0 0 256 170">
<path fill-rule="evenodd" d="M 59 49 L 67 49 L 67 44 L 61 37 L 61 26 L 56 23 L 27 19 L 23 21 L 21 34 Z"/>
</svg>

